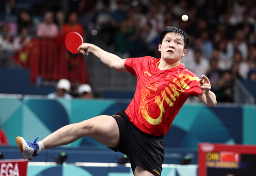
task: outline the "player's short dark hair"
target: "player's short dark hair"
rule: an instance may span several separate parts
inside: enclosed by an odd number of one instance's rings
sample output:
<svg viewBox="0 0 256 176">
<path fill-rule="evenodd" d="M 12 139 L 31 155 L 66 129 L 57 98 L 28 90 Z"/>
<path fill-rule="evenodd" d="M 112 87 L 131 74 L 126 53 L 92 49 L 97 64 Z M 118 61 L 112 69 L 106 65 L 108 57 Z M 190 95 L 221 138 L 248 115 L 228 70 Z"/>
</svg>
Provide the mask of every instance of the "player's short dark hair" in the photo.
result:
<svg viewBox="0 0 256 176">
<path fill-rule="evenodd" d="M 163 38 L 165 37 L 165 35 L 167 33 L 176 33 L 178 35 L 181 35 L 183 37 L 183 42 L 185 43 L 184 49 L 188 48 L 190 37 L 188 36 L 188 34 L 185 31 L 183 31 L 182 29 L 180 29 L 178 27 L 165 27 L 163 29 L 163 32 L 160 35 L 160 39 L 159 39 L 160 44 L 162 44 Z"/>
</svg>

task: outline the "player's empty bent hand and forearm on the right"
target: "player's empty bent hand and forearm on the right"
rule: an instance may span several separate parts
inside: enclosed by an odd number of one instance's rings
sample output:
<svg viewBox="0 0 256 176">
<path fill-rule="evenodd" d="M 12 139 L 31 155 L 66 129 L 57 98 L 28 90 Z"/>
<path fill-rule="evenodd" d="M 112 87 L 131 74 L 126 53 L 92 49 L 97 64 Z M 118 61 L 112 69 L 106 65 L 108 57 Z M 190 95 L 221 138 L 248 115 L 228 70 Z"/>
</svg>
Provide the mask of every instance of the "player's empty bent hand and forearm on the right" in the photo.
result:
<svg viewBox="0 0 256 176">
<path fill-rule="evenodd" d="M 215 94 L 210 91 L 211 90 L 211 82 L 205 76 L 202 75 L 203 80 L 199 81 L 199 86 L 201 87 L 203 93 L 199 94 L 197 97 L 204 102 L 208 107 L 215 107 L 216 106 L 216 96 Z"/>
</svg>

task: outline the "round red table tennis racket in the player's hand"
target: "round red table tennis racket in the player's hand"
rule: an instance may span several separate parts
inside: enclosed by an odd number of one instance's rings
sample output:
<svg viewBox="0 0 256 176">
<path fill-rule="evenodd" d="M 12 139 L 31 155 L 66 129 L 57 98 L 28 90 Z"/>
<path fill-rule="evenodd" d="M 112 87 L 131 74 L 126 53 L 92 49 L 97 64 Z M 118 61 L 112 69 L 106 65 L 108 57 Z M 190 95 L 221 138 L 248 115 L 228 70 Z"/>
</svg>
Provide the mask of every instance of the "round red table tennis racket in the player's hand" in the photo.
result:
<svg viewBox="0 0 256 176">
<path fill-rule="evenodd" d="M 66 48 L 73 54 L 78 53 L 78 47 L 83 43 L 82 36 L 77 32 L 69 32 L 65 38 Z M 85 54 L 88 56 L 90 53 L 85 51 Z"/>
</svg>

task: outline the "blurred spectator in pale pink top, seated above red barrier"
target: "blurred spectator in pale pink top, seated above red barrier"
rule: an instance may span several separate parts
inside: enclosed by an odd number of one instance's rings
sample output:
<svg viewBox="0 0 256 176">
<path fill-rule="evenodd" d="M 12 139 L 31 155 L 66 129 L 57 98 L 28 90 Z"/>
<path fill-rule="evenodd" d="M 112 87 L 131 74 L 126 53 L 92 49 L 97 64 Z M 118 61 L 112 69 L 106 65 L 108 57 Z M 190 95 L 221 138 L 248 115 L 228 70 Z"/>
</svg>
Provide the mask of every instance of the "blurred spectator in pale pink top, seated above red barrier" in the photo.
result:
<svg viewBox="0 0 256 176">
<path fill-rule="evenodd" d="M 39 24 L 37 30 L 38 37 L 57 37 L 59 31 L 57 25 L 53 22 L 54 15 L 51 11 L 44 14 L 44 21 Z"/>
</svg>

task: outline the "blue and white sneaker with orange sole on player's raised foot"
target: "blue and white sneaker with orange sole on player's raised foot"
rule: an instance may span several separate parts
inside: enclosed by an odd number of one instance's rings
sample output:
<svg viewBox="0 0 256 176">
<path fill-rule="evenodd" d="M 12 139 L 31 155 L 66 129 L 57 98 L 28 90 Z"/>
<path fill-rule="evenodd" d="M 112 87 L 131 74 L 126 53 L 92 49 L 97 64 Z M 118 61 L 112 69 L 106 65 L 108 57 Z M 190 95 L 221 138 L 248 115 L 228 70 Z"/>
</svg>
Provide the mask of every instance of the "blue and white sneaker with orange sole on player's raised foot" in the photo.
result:
<svg viewBox="0 0 256 176">
<path fill-rule="evenodd" d="M 37 139 L 38 137 L 34 140 L 34 142 L 30 142 L 20 136 L 16 137 L 16 143 L 24 159 L 32 160 L 38 155 L 37 152 L 39 146 L 37 143 Z"/>
</svg>

